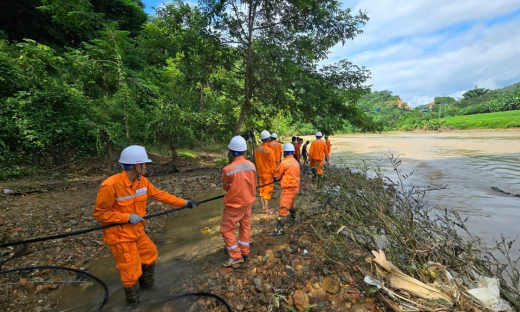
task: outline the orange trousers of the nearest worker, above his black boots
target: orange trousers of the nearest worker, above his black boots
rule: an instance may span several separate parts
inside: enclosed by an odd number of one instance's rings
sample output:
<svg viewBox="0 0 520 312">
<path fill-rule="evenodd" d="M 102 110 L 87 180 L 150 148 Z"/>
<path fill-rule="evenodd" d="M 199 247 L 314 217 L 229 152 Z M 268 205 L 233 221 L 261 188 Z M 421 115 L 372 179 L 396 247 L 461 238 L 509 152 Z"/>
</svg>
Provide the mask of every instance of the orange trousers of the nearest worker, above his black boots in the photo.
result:
<svg viewBox="0 0 520 312">
<path fill-rule="evenodd" d="M 116 259 L 125 288 L 134 286 L 143 273 L 141 266 L 154 263 L 158 255 L 157 247 L 145 233 L 136 241 L 110 244 L 109 246 Z"/>
</svg>

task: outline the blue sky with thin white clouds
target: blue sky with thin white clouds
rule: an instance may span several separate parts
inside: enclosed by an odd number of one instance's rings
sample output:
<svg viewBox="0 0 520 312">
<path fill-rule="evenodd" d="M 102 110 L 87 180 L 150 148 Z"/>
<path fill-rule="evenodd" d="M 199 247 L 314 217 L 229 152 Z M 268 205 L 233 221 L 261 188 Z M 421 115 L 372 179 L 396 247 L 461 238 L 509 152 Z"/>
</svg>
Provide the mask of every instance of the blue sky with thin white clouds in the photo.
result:
<svg viewBox="0 0 520 312">
<path fill-rule="evenodd" d="M 144 0 L 146 11 L 163 1 Z M 390 90 L 415 107 L 436 96 L 462 97 L 520 81 L 520 1 L 344 1 L 370 18 L 363 33 L 332 48 L 372 73 L 373 91 Z"/>
</svg>

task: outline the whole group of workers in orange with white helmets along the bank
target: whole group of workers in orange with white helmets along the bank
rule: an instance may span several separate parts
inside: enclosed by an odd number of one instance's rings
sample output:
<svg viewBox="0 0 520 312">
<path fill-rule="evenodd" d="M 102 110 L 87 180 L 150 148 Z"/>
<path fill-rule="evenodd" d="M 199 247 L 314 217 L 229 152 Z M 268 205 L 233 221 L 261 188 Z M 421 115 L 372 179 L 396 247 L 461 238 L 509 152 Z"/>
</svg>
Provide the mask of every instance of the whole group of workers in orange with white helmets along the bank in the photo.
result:
<svg viewBox="0 0 520 312">
<path fill-rule="evenodd" d="M 301 155 L 310 159 L 313 178 L 321 182 L 324 159 L 328 163 L 330 142 L 323 141 L 321 132 L 316 133 L 308 152 L 309 141 Z M 327 137 L 326 137 L 327 138 Z M 278 210 L 278 222 L 270 235 L 282 235 L 286 218 L 296 217 L 296 195 L 300 187 L 300 146 L 303 139 L 293 138 L 283 146 L 276 133 L 267 130 L 260 133 L 262 144 L 255 152 L 256 165 L 244 157 L 246 140 L 235 136 L 228 144 L 232 161 L 222 170 L 224 211 L 220 232 L 230 258 L 225 267 L 244 262 L 250 253 L 251 210 L 256 197 L 257 175 L 260 183 L 262 209 L 266 214 L 273 194 L 273 184 L 280 181 L 282 195 Z M 329 142 L 329 143 L 327 143 Z M 282 160 L 283 156 L 283 160 Z M 198 202 L 176 197 L 155 188 L 144 177 L 146 163 L 152 162 L 142 146 L 125 148 L 119 159 L 123 171 L 103 181 L 99 189 L 94 218 L 102 225 L 119 223 L 119 226 L 103 229 L 103 240 L 110 246 L 119 269 L 128 303 L 139 302 L 139 289 L 154 284 L 155 261 L 158 253 L 155 244 L 144 232 L 146 201 L 152 197 L 172 207 L 195 208 Z M 236 225 L 240 225 L 238 239 Z"/>
</svg>

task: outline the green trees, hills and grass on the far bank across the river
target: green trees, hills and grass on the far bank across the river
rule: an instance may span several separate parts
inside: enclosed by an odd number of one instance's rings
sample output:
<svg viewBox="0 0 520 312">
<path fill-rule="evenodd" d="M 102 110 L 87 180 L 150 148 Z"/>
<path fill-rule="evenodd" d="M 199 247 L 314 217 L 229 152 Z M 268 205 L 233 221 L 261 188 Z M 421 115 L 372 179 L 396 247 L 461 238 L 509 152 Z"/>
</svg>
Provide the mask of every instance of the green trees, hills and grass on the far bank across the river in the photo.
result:
<svg viewBox="0 0 520 312">
<path fill-rule="evenodd" d="M 384 125 L 385 130 L 520 127 L 520 82 L 496 90 L 475 87 L 466 91 L 463 98 L 458 100 L 449 96 L 435 97 L 433 103 L 414 109 L 391 91 L 374 91 L 362 96 L 358 106 Z"/>
</svg>

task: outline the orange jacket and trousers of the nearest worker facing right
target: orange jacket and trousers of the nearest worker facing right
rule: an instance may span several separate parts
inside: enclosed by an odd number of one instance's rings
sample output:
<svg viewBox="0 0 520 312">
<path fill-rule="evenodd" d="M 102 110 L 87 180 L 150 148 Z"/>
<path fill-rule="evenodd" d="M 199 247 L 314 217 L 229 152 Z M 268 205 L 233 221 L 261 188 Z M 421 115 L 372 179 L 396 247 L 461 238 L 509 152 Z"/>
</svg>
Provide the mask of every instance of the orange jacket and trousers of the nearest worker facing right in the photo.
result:
<svg viewBox="0 0 520 312">
<path fill-rule="evenodd" d="M 144 232 L 146 221 L 128 223 L 130 214 L 146 215 L 148 196 L 173 207 L 186 203 L 182 198 L 158 190 L 145 177 L 131 183 L 124 171 L 103 181 L 97 195 L 94 218 L 101 225 L 121 223 L 103 229 L 103 240 L 112 250 L 125 288 L 137 283 L 142 265 L 152 264 L 157 259 L 157 248 Z"/>
</svg>

